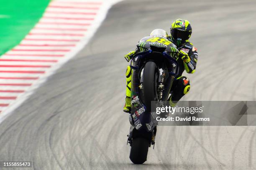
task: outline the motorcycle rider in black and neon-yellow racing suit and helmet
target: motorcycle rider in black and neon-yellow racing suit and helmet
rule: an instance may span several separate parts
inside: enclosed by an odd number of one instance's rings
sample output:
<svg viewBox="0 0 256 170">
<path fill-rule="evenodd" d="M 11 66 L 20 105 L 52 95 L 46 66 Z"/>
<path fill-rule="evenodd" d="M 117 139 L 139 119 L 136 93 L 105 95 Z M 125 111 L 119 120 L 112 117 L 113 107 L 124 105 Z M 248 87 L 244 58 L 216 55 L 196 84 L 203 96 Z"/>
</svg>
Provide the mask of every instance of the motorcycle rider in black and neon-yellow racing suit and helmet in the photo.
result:
<svg viewBox="0 0 256 170">
<path fill-rule="evenodd" d="M 154 32 L 154 31 L 153 31 Z M 152 34 L 152 33 L 151 33 Z M 172 23 L 171 35 L 168 36 L 166 32 L 166 38 L 172 41 L 179 50 L 179 54 L 176 58 L 179 63 L 179 74 L 175 77 L 171 88 L 171 96 L 169 97 L 169 103 L 172 107 L 190 90 L 189 79 L 182 76 L 184 70 L 187 73 L 194 73 L 197 64 L 197 48 L 189 42 L 189 37 L 192 34 L 192 28 L 188 20 L 177 19 Z M 137 51 L 131 51 L 125 55 L 127 61 L 136 54 Z M 131 67 L 128 65 L 126 70 L 126 97 L 124 112 L 131 111 Z"/>
</svg>

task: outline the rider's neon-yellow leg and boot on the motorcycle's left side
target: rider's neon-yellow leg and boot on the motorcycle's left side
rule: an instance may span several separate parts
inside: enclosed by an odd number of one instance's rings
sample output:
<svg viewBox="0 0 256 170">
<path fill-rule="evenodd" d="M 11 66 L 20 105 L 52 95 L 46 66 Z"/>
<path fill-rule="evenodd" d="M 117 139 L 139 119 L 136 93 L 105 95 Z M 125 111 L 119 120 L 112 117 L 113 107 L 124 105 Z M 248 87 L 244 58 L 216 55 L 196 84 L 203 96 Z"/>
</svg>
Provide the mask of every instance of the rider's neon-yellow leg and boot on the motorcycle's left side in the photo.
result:
<svg viewBox="0 0 256 170">
<path fill-rule="evenodd" d="M 131 111 L 131 73 L 132 69 L 130 65 L 126 69 L 126 97 L 125 97 L 125 106 L 123 107 L 124 112 Z"/>
</svg>

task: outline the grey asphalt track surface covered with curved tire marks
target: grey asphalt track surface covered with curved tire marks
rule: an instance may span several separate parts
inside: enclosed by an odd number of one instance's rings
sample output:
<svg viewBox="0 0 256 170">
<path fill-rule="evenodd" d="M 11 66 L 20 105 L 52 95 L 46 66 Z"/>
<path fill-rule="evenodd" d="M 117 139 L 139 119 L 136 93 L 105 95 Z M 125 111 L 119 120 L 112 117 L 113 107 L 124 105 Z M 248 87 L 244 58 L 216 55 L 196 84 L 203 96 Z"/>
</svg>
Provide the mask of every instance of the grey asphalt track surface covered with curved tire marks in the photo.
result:
<svg viewBox="0 0 256 170">
<path fill-rule="evenodd" d="M 151 30 L 169 30 L 177 18 L 192 23 L 199 53 L 183 100 L 256 100 L 255 6 L 253 0 L 114 5 L 79 55 L 1 123 L 0 160 L 31 160 L 35 170 L 256 169 L 253 126 L 159 127 L 147 162 L 133 165 L 128 115 L 121 110 L 123 55 Z"/>
</svg>

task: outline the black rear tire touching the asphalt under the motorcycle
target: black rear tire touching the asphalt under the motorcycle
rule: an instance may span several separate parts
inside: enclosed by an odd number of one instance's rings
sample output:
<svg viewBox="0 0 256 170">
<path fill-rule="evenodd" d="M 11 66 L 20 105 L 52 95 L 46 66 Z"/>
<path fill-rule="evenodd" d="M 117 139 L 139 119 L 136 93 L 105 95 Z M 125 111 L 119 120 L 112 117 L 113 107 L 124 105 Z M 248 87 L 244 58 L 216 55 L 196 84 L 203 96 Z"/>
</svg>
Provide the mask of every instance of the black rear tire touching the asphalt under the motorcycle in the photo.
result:
<svg viewBox="0 0 256 170">
<path fill-rule="evenodd" d="M 130 160 L 134 164 L 143 164 L 147 160 L 148 140 L 145 138 L 135 138 L 132 140 Z"/>
</svg>

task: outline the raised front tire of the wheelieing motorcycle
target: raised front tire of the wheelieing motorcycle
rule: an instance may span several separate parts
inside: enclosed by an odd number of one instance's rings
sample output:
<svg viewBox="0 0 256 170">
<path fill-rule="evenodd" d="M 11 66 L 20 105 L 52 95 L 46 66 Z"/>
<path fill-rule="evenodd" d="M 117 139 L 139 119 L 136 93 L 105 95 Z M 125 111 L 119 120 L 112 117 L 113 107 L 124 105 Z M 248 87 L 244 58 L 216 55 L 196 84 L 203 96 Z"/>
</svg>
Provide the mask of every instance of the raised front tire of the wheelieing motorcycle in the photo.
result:
<svg viewBox="0 0 256 170">
<path fill-rule="evenodd" d="M 147 111 L 151 111 L 151 101 L 155 101 L 156 98 L 156 63 L 149 61 L 146 63 L 143 71 L 143 94 L 144 94 L 144 104 L 146 105 Z"/>
</svg>

